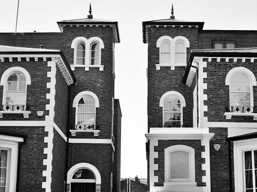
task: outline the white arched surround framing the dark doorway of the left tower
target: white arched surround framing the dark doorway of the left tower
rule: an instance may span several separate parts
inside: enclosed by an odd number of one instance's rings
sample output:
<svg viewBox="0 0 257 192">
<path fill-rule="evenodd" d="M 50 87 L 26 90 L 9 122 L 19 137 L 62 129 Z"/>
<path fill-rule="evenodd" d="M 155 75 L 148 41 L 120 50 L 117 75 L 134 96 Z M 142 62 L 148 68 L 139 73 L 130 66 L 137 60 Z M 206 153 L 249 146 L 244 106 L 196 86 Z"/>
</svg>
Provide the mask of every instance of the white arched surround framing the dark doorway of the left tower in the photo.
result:
<svg viewBox="0 0 257 192">
<path fill-rule="evenodd" d="M 90 170 L 91 172 L 93 172 L 93 174 L 95 175 L 96 178 L 96 187 L 98 187 L 99 185 L 101 185 L 101 175 L 99 173 L 99 170 L 92 164 L 89 163 L 78 163 L 74 166 L 72 166 L 67 173 L 67 184 L 71 184 L 72 182 L 76 182 L 76 180 L 78 179 L 72 179 L 72 176 L 77 172 L 77 170 L 82 169 L 82 168 L 86 168 L 88 170 Z M 69 190 L 67 190 L 67 192 L 71 191 L 71 187 L 69 187 Z M 101 190 L 96 190 L 96 191 L 101 191 Z"/>
</svg>

